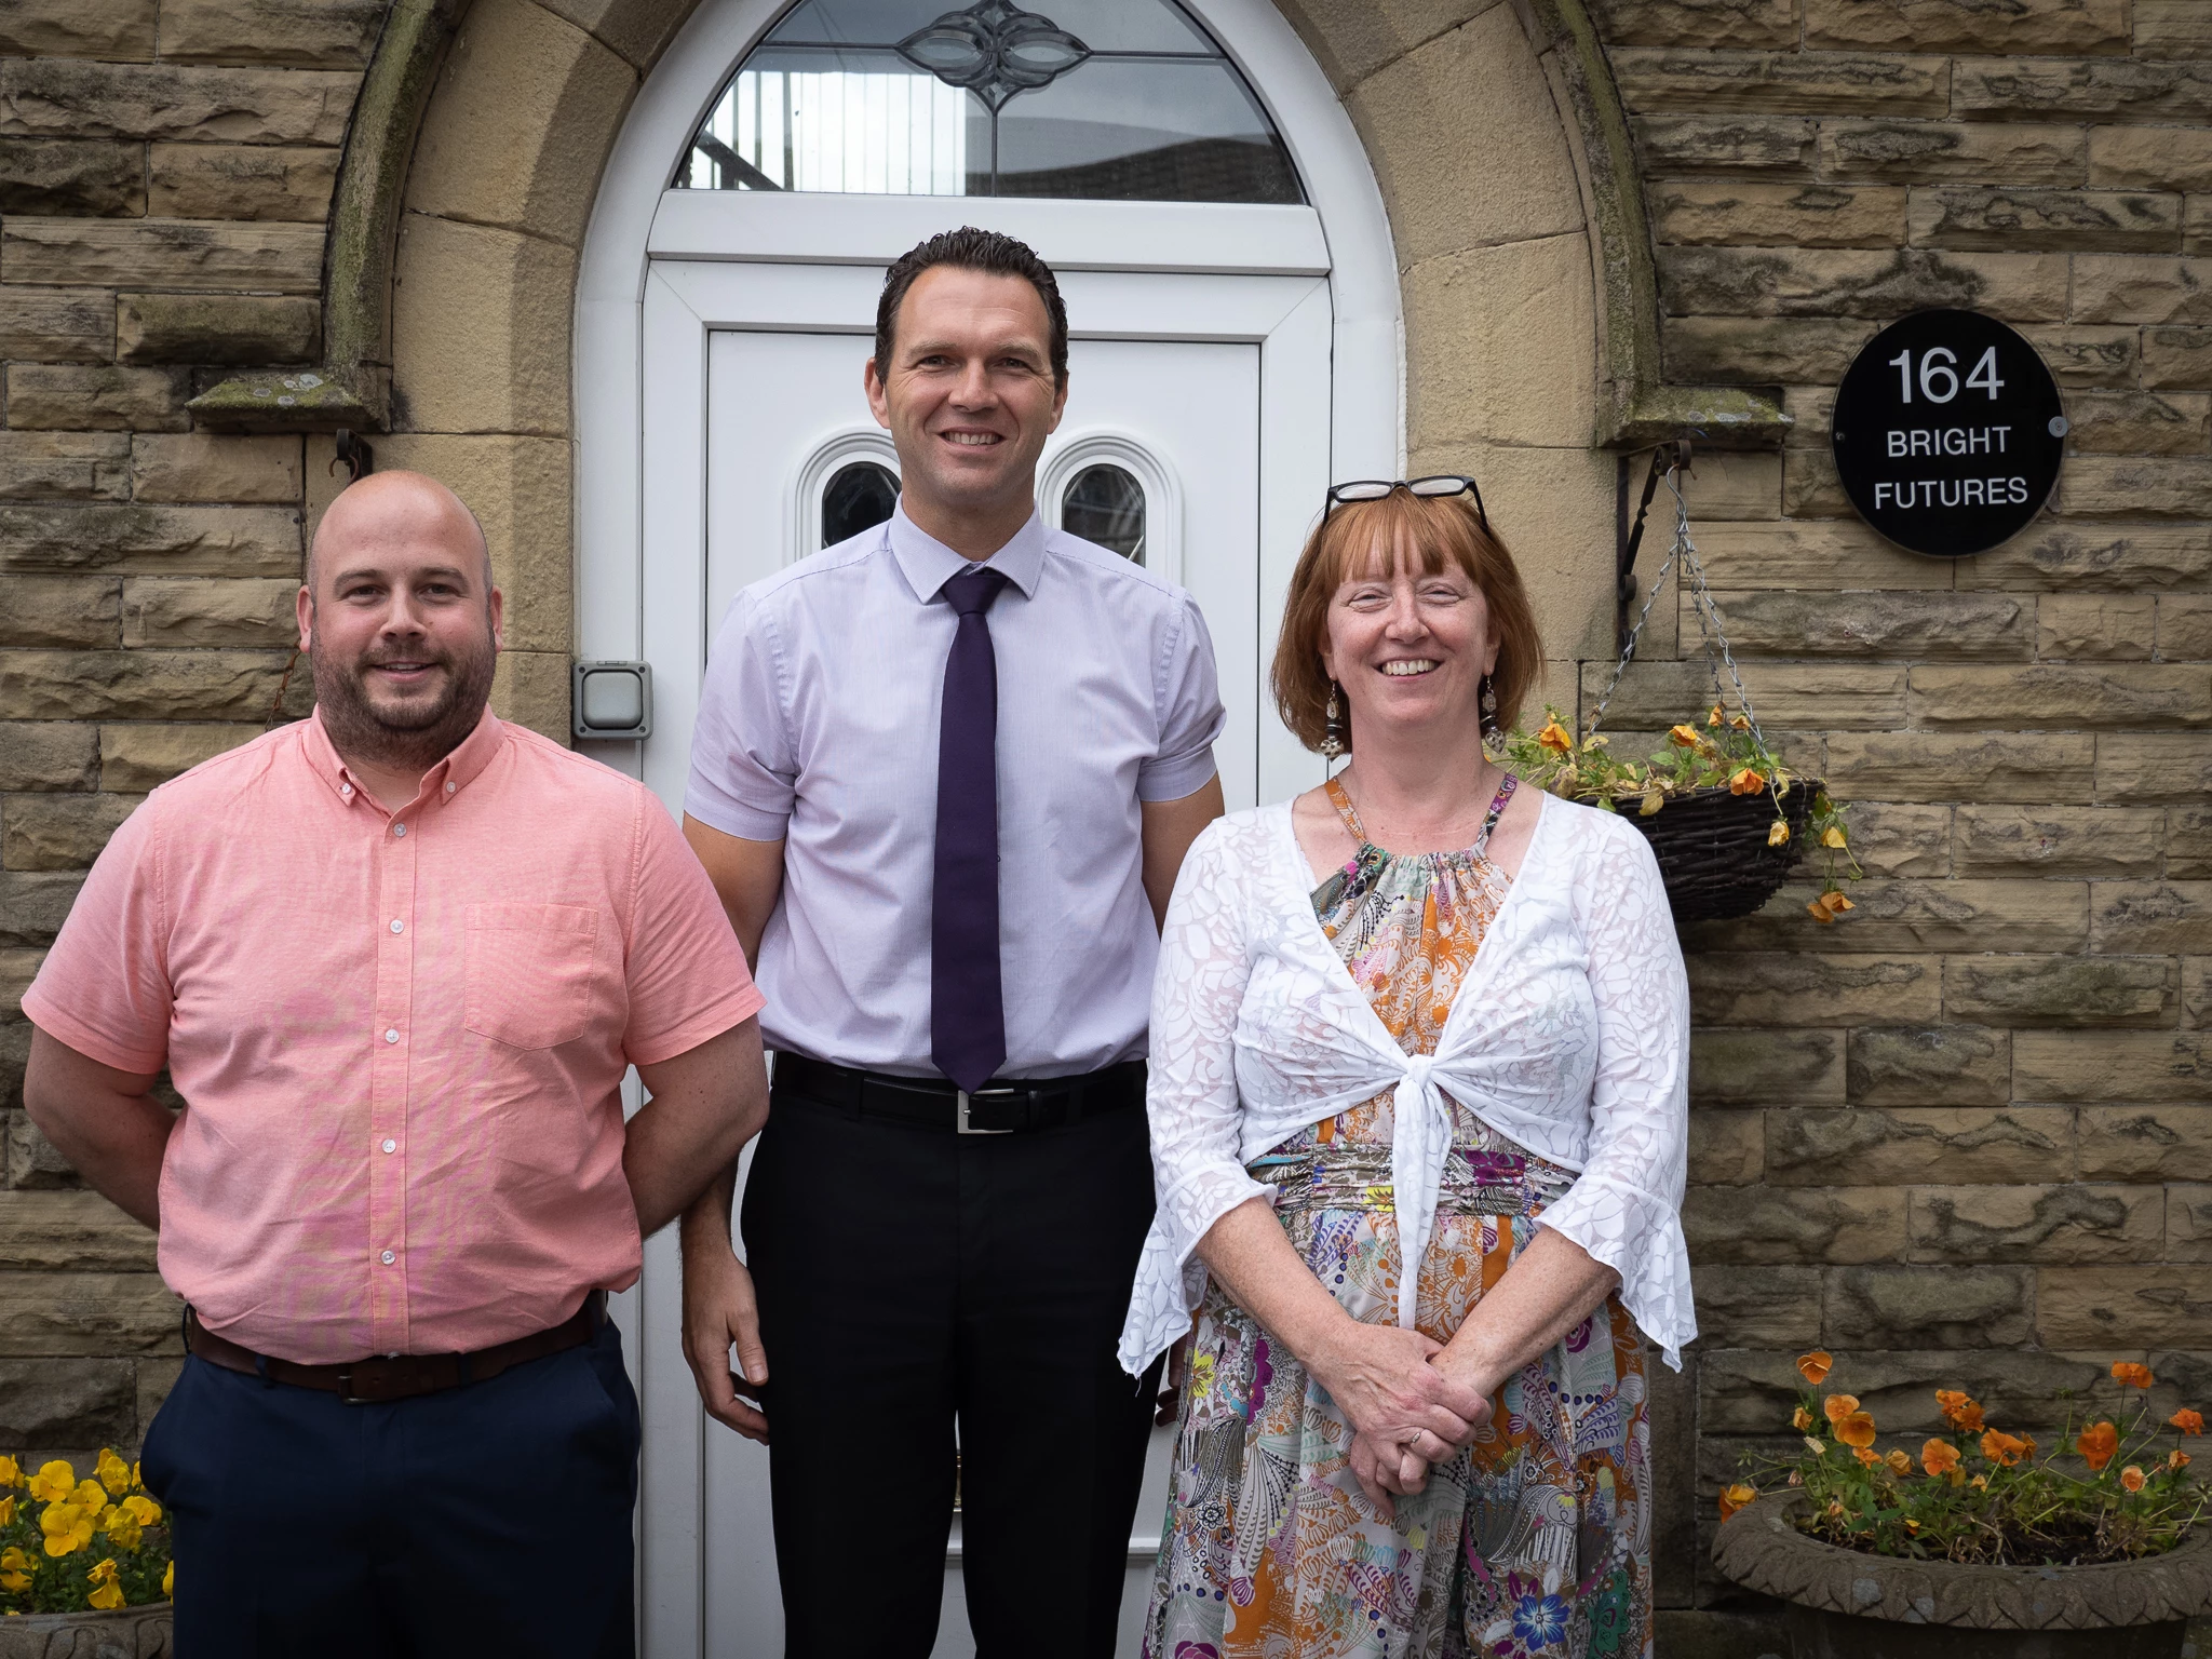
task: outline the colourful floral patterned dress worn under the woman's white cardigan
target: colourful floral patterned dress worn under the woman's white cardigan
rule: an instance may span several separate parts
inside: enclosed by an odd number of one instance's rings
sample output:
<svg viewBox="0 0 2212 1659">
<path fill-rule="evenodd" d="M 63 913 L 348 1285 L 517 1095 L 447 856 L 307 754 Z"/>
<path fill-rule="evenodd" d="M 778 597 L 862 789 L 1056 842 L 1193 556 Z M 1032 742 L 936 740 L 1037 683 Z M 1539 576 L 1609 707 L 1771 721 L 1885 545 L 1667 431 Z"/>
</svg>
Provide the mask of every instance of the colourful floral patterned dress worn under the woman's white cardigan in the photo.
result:
<svg viewBox="0 0 2212 1659">
<path fill-rule="evenodd" d="M 1407 1053 L 1433 1053 L 1509 878 L 1467 852 L 1394 856 L 1352 799 L 1358 856 L 1314 891 L 1354 982 Z M 1575 1175 L 1455 1108 L 1416 1325 L 1449 1340 Z M 1398 1303 L 1391 1095 L 1256 1159 L 1292 1245 L 1358 1321 Z M 1352 1475 L 1352 1425 L 1212 1285 L 1192 1334 L 1146 1659 L 1601 1659 L 1650 1655 L 1650 1427 L 1619 1298 L 1504 1385 L 1471 1447 L 1398 1498 Z"/>
</svg>

